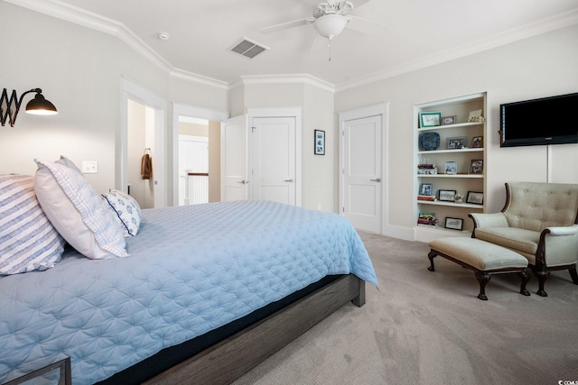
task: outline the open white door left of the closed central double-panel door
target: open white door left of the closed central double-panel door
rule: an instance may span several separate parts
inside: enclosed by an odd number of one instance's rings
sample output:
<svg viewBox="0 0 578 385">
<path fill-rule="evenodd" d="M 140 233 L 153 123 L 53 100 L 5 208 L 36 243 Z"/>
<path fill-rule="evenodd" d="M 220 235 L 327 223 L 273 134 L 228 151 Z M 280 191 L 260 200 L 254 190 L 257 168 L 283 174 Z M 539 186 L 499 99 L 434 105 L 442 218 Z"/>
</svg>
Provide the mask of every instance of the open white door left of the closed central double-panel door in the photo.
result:
<svg viewBox="0 0 578 385">
<path fill-rule="evenodd" d="M 240 115 L 220 124 L 221 187 L 223 202 L 247 200 L 247 116 Z"/>
</svg>

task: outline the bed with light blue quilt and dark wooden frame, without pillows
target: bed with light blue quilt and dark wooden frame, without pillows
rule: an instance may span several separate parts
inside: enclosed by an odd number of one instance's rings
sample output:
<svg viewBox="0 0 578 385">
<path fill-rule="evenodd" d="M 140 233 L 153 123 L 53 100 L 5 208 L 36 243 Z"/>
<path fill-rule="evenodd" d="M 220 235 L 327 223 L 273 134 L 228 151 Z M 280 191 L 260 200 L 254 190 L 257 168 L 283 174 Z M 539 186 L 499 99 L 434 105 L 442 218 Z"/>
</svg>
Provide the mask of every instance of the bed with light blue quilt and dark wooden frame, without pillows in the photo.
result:
<svg viewBox="0 0 578 385">
<path fill-rule="evenodd" d="M 346 219 L 269 201 L 143 210 L 126 251 L 0 277 L 0 383 L 229 383 L 378 285 Z"/>
</svg>

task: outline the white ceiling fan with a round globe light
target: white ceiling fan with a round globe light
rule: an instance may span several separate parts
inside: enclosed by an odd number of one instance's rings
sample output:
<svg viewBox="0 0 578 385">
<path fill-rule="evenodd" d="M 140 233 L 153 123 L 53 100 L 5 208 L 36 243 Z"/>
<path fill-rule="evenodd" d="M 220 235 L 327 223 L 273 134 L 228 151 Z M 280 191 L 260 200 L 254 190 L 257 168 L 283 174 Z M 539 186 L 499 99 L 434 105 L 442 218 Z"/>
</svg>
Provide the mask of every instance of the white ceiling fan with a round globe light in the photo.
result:
<svg viewBox="0 0 578 385">
<path fill-rule="evenodd" d="M 369 0 L 357 0 L 358 8 L 361 5 L 368 3 Z M 319 3 L 313 6 L 313 14 L 310 17 L 305 17 L 303 19 L 294 20 L 292 22 L 286 22 L 281 24 L 272 25 L 270 27 L 263 28 L 262 33 L 271 33 L 286 30 L 288 28 L 294 28 L 298 26 L 313 24 L 315 31 L 319 33 L 322 37 L 328 40 L 328 47 L 330 48 L 330 61 L 331 61 L 331 40 L 339 35 L 345 27 L 350 23 L 352 19 L 358 19 L 361 22 L 373 23 L 378 26 L 383 26 L 376 22 L 372 22 L 367 19 L 362 19 L 358 16 L 350 14 L 355 6 L 350 1 L 327 1 L 325 3 Z M 363 29 L 352 28 L 359 32 L 366 32 Z"/>
</svg>

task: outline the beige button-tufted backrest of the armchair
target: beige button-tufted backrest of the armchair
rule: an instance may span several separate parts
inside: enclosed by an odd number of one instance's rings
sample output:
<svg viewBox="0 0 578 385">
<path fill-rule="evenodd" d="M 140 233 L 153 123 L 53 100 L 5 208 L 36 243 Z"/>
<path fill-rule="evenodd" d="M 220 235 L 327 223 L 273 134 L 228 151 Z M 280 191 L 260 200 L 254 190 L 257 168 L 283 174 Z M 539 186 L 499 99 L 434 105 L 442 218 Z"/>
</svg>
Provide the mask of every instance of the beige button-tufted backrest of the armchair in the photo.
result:
<svg viewBox="0 0 578 385">
<path fill-rule="evenodd" d="M 578 185 L 515 182 L 506 184 L 502 213 L 510 227 L 542 232 L 546 227 L 578 224 Z"/>
</svg>

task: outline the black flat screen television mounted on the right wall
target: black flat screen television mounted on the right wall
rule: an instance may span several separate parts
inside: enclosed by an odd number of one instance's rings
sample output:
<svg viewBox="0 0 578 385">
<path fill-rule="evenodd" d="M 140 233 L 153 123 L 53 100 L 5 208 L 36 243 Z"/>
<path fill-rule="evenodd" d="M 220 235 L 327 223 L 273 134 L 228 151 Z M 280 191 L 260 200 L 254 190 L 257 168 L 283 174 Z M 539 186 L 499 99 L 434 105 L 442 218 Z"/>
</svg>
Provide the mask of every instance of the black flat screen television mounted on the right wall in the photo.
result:
<svg viewBox="0 0 578 385">
<path fill-rule="evenodd" d="M 499 106 L 500 146 L 578 143 L 578 93 Z"/>
</svg>

